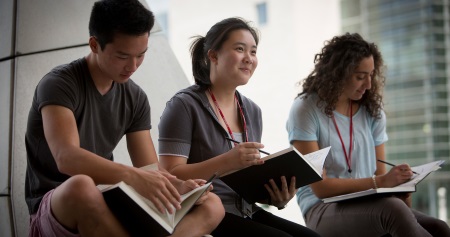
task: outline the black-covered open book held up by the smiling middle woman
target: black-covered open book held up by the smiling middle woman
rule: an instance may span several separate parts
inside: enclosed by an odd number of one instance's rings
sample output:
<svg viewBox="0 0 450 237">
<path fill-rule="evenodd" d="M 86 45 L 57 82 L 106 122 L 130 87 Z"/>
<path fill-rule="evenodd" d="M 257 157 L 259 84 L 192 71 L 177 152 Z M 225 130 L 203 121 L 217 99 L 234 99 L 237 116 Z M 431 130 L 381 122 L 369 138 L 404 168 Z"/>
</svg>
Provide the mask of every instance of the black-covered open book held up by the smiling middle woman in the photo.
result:
<svg viewBox="0 0 450 237">
<path fill-rule="evenodd" d="M 253 165 L 226 173 L 220 179 L 230 186 L 248 203 L 266 200 L 270 197 L 264 184 L 273 179 L 281 187 L 281 176 L 289 183 L 295 176 L 295 188 L 322 180 L 323 165 L 330 147 L 302 155 L 294 147 L 289 147 L 263 157 L 264 164 Z"/>
</svg>

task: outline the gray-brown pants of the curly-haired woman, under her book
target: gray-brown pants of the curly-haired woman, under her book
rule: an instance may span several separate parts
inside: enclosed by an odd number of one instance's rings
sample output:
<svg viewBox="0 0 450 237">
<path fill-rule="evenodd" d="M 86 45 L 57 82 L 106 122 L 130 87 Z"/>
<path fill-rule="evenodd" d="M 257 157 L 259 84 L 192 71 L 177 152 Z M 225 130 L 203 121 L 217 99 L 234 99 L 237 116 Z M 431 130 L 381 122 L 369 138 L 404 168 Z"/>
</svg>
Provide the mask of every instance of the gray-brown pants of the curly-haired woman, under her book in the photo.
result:
<svg viewBox="0 0 450 237">
<path fill-rule="evenodd" d="M 305 216 L 306 225 L 322 237 L 447 237 L 447 223 L 409 208 L 396 197 L 366 197 L 318 203 Z"/>
</svg>

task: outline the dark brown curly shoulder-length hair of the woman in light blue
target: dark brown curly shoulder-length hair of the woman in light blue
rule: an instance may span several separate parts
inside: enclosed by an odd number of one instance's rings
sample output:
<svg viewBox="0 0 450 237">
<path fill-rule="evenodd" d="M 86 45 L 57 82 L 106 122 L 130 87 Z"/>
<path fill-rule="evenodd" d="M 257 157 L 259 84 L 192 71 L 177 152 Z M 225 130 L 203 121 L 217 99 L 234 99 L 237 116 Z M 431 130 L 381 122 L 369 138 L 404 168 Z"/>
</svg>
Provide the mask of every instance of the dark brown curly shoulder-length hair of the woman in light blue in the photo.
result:
<svg viewBox="0 0 450 237">
<path fill-rule="evenodd" d="M 382 89 L 385 83 L 383 75 L 383 58 L 374 43 L 365 41 L 358 33 L 346 33 L 335 36 L 325 42 L 321 52 L 314 57 L 314 70 L 300 82 L 303 91 L 297 96 L 306 98 L 316 93 L 319 97 L 317 106 L 324 107 L 324 112 L 331 117 L 344 85 L 350 80 L 360 62 L 373 57 L 375 69 L 370 90 L 359 101 L 372 117 L 379 117 L 383 107 Z"/>
</svg>

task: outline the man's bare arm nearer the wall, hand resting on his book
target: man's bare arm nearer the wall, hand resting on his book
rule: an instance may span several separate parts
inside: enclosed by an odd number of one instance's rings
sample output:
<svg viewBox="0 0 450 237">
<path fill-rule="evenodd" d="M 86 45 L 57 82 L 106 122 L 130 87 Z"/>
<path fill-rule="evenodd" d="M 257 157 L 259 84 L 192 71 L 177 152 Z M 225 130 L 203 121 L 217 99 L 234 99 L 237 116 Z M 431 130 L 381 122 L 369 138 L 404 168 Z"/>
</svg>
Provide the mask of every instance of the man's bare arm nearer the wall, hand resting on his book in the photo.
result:
<svg viewBox="0 0 450 237">
<path fill-rule="evenodd" d="M 180 195 L 167 177 L 160 172 L 148 172 L 115 163 L 81 148 L 77 124 L 70 109 L 47 105 L 41 109 L 41 113 L 45 138 L 61 173 L 70 176 L 88 175 L 96 183 L 114 184 L 124 181 L 155 203 L 161 212 L 164 209 L 171 211 L 172 205 L 179 208 Z M 143 133 L 137 132 L 136 134 L 140 135 L 136 137 L 132 135 L 132 140 L 137 140 Z M 148 143 L 146 145 L 150 146 Z M 138 165 L 144 164 L 147 159 L 148 162 L 152 161 L 153 158 L 150 157 L 141 158 L 145 157 L 146 152 L 139 153 L 135 146 L 149 149 L 149 151 L 153 149 L 155 154 L 153 146 L 146 148 L 143 142 L 138 145 L 129 145 L 129 148 L 130 146 L 133 163 Z M 148 154 L 152 153 L 148 152 Z"/>
</svg>

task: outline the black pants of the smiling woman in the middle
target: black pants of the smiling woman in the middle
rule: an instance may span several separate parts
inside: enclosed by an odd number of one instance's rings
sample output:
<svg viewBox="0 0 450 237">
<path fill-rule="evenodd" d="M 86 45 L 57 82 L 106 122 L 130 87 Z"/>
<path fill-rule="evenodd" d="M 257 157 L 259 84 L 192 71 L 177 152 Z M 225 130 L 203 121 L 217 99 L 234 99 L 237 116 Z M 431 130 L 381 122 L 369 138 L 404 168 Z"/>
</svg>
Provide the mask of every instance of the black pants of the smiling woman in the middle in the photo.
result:
<svg viewBox="0 0 450 237">
<path fill-rule="evenodd" d="M 319 237 L 314 231 L 265 210 L 254 213 L 252 219 L 225 213 L 222 222 L 211 235 L 214 237 Z"/>
</svg>

